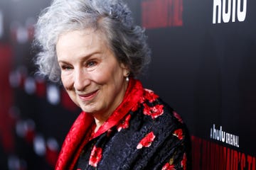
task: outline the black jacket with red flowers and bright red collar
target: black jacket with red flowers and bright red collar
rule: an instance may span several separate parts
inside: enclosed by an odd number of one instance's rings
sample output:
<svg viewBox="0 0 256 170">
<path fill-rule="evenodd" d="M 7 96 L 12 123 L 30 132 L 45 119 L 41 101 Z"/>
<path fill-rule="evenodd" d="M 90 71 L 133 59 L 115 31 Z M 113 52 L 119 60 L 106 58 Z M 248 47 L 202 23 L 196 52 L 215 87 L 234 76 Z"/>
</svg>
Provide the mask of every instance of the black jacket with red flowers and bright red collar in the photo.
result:
<svg viewBox="0 0 256 170">
<path fill-rule="evenodd" d="M 181 117 L 161 98 L 130 79 L 124 100 L 93 133 L 80 113 L 60 151 L 56 170 L 191 169 L 190 137 Z"/>
</svg>

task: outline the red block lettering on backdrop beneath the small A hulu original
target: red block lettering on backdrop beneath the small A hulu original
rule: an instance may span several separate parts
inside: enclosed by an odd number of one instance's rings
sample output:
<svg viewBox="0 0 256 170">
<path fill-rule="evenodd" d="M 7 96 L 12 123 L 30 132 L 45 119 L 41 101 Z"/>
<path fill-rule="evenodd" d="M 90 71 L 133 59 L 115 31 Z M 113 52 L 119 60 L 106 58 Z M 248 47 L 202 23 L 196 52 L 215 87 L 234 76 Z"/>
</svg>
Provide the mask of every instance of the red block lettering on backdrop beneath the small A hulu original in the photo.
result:
<svg viewBox="0 0 256 170">
<path fill-rule="evenodd" d="M 192 136 L 192 162 L 196 170 L 255 170 L 256 157 Z"/>
</svg>

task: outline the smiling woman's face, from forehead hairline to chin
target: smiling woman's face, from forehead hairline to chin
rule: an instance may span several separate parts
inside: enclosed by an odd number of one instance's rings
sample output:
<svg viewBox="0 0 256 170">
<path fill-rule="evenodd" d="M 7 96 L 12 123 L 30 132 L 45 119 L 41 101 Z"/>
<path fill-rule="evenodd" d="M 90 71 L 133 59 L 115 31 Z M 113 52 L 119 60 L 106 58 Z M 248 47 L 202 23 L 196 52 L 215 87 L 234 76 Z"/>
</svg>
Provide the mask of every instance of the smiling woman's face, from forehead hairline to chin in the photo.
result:
<svg viewBox="0 0 256 170">
<path fill-rule="evenodd" d="M 102 38 L 90 29 L 60 35 L 56 45 L 61 80 L 82 111 L 109 116 L 124 97 L 127 68 Z"/>
</svg>

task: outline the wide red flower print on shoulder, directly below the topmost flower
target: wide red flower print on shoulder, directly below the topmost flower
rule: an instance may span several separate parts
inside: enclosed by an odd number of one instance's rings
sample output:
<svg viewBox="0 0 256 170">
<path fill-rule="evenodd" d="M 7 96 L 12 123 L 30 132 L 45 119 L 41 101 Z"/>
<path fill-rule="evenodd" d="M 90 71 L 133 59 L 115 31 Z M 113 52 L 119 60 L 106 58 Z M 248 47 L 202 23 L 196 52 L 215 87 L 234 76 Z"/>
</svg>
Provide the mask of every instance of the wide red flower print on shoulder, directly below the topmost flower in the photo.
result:
<svg viewBox="0 0 256 170">
<path fill-rule="evenodd" d="M 143 106 L 144 106 L 144 110 L 143 110 L 144 115 L 150 115 L 152 119 L 155 119 L 159 117 L 159 115 L 162 115 L 164 113 L 163 105 L 156 105 L 156 106 L 150 107 L 146 105 L 146 103 L 144 103 Z"/>
</svg>

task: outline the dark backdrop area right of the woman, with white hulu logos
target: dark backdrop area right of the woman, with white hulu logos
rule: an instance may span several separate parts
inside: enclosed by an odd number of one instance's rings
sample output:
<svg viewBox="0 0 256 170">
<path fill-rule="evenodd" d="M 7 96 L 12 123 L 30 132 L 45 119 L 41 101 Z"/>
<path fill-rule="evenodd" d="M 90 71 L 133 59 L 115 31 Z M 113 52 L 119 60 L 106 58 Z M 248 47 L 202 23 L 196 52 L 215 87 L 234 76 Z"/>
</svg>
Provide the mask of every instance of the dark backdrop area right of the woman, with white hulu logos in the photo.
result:
<svg viewBox="0 0 256 170">
<path fill-rule="evenodd" d="M 256 1 L 129 1 L 153 60 L 144 82 L 191 132 L 193 169 L 255 169 Z"/>
</svg>

